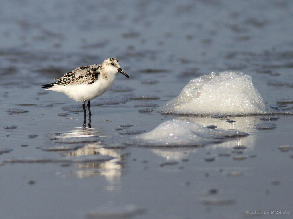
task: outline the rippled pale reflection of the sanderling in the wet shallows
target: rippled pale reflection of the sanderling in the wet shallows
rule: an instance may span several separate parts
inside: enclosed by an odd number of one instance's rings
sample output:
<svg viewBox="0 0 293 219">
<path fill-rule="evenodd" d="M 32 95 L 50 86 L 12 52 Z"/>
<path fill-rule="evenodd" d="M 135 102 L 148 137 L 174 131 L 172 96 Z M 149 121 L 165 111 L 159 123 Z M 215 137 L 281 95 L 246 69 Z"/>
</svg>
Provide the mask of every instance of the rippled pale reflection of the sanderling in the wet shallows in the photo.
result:
<svg viewBox="0 0 293 219">
<path fill-rule="evenodd" d="M 86 127 L 88 122 L 88 127 Z M 129 148 L 104 148 L 99 142 L 99 136 L 104 135 L 101 127 L 91 127 L 91 117 L 84 117 L 83 127 L 76 127 L 67 133 L 61 133 L 58 139 L 59 143 L 70 143 L 79 145 L 77 150 L 67 151 L 63 155 L 66 157 L 79 157 L 84 162 L 74 163 L 76 170 L 72 171 L 75 177 L 86 178 L 102 175 L 108 181 L 108 190 L 117 189 L 120 185 L 122 175 L 123 160 L 130 153 Z M 89 157 L 108 156 L 112 159 L 108 161 L 87 162 Z"/>
</svg>

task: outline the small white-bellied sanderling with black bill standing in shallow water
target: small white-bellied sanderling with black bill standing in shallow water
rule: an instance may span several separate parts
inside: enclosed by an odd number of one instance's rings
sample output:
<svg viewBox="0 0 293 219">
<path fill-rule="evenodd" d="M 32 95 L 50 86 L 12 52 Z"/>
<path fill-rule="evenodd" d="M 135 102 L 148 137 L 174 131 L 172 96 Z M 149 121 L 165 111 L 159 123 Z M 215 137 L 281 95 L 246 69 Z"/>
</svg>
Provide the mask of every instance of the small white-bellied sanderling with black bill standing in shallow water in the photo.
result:
<svg viewBox="0 0 293 219">
<path fill-rule="evenodd" d="M 90 100 L 96 98 L 114 83 L 116 73 L 120 72 L 127 78 L 129 76 L 120 68 L 120 63 L 115 58 L 107 58 L 102 65 L 89 65 L 74 69 L 60 78 L 54 79 L 54 83 L 44 84 L 44 90 L 65 93 L 76 101 L 84 101 L 82 107 L 86 115 L 85 104 L 88 101 L 88 114 L 91 115 Z"/>
</svg>

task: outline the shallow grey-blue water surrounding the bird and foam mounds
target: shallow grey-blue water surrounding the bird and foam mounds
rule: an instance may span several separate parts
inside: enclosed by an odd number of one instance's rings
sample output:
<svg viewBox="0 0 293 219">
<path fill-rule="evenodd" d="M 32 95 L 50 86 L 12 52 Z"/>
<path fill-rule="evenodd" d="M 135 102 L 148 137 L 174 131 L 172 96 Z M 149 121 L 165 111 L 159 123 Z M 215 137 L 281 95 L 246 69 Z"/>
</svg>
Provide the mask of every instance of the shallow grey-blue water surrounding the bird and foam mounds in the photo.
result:
<svg viewBox="0 0 293 219">
<path fill-rule="evenodd" d="M 1 3 L 2 217 L 292 218 L 292 9 L 289 0 Z M 91 101 L 91 118 L 81 102 L 42 91 L 107 57 L 130 78 L 117 75 Z M 153 108 L 226 70 L 250 75 L 282 114 Z M 134 141 L 173 119 L 248 136 L 188 147 Z"/>
</svg>

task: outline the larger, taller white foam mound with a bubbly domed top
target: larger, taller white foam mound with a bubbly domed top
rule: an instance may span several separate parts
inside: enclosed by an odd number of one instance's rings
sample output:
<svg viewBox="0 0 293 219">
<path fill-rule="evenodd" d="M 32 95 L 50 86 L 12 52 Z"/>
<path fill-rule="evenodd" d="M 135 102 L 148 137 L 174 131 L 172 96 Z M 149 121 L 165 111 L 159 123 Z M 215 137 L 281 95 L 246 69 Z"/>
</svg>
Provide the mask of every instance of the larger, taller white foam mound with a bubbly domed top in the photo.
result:
<svg viewBox="0 0 293 219">
<path fill-rule="evenodd" d="M 192 79 L 180 95 L 156 109 L 171 114 L 266 114 L 273 111 L 241 72 L 212 72 Z"/>
</svg>

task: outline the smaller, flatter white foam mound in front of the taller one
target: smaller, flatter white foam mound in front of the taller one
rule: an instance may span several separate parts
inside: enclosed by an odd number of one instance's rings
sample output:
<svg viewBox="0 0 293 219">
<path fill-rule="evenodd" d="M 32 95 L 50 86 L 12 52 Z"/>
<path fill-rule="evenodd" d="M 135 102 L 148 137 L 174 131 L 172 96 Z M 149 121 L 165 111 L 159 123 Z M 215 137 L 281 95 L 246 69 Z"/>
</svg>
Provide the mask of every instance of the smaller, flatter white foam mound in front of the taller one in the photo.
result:
<svg viewBox="0 0 293 219">
<path fill-rule="evenodd" d="M 137 135 L 144 146 L 204 146 L 233 137 L 247 136 L 237 130 L 210 129 L 189 120 L 168 120 L 148 133 Z M 146 141 L 146 142 L 145 142 Z"/>
</svg>

